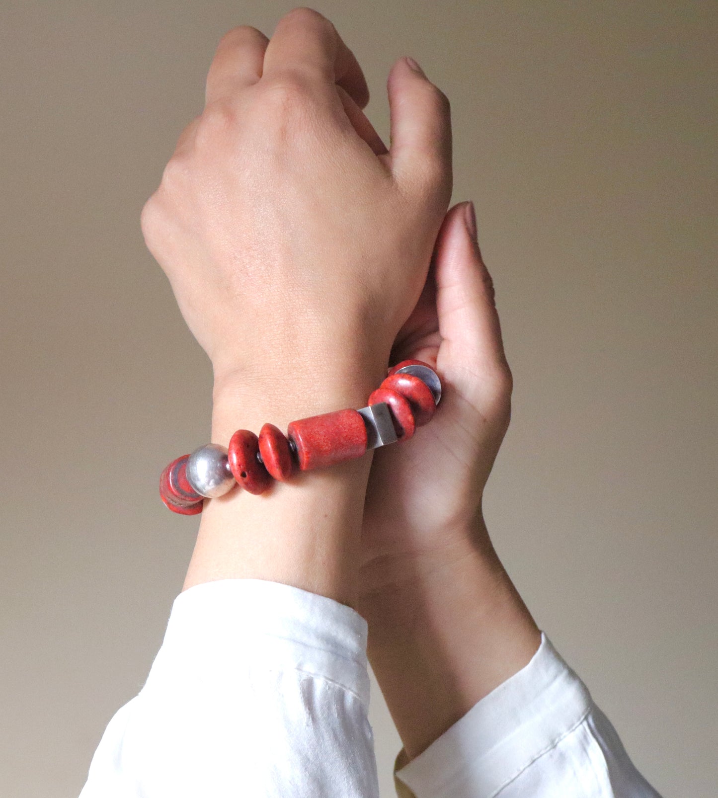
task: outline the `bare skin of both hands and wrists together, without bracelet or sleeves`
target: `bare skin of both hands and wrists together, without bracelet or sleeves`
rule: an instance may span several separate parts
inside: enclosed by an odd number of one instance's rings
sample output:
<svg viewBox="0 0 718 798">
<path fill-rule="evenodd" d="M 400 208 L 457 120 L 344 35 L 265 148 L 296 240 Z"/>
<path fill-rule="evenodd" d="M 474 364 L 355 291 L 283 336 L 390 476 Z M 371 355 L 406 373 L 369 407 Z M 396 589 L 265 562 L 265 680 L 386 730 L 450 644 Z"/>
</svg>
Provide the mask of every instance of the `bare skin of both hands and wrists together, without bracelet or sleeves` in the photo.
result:
<svg viewBox="0 0 718 798">
<path fill-rule="evenodd" d="M 408 59 L 387 87 L 389 148 L 321 14 L 294 10 L 271 39 L 230 31 L 142 229 L 211 359 L 215 442 L 361 407 L 389 361 L 436 363 L 436 417 L 373 467 L 205 502 L 184 583 L 269 579 L 357 608 L 413 757 L 528 662 L 538 631 L 480 512 L 511 373 L 469 208 L 447 215 L 448 101 Z"/>
</svg>

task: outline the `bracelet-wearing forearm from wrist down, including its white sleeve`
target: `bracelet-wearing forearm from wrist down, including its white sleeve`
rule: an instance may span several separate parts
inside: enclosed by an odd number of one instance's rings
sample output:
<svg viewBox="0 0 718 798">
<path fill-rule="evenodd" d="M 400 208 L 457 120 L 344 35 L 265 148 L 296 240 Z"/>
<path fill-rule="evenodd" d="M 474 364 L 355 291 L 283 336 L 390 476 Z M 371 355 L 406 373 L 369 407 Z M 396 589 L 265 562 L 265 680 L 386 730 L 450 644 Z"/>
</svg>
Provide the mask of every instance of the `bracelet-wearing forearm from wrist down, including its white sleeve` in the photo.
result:
<svg viewBox="0 0 718 798">
<path fill-rule="evenodd" d="M 357 353 L 345 369 L 345 354 L 328 344 L 324 367 L 305 354 L 283 380 L 269 363 L 261 381 L 218 378 L 211 439 L 361 407 L 373 367 Z M 160 654 L 108 726 L 83 798 L 378 795 L 366 625 L 337 603 L 355 603 L 370 463 L 205 503 Z"/>
</svg>

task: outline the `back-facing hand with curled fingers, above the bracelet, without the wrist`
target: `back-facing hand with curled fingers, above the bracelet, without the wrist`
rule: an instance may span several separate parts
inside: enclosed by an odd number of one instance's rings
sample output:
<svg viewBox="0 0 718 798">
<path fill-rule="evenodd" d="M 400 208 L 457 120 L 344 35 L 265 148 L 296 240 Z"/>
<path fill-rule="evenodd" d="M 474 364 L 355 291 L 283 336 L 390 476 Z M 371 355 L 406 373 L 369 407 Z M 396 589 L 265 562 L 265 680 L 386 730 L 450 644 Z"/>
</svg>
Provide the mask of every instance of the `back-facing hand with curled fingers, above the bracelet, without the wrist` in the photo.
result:
<svg viewBox="0 0 718 798">
<path fill-rule="evenodd" d="M 240 27 L 220 42 L 203 113 L 142 215 L 215 385 L 381 380 L 451 194 L 445 97 L 405 59 L 388 88 L 389 151 L 321 14 L 294 10 L 271 41 Z"/>
</svg>

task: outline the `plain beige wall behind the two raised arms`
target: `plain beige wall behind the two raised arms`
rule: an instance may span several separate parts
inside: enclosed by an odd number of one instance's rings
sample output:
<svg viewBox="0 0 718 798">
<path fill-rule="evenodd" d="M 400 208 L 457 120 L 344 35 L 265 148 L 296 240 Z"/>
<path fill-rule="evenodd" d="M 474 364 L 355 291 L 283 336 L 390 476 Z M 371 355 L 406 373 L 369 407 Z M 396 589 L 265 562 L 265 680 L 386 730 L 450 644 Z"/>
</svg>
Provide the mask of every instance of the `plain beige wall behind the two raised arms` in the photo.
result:
<svg viewBox="0 0 718 798">
<path fill-rule="evenodd" d="M 0 794 L 76 796 L 135 695 L 196 519 L 209 365 L 140 207 L 224 30 L 282 2 L 2 2 Z M 716 4 L 318 2 L 387 129 L 411 53 L 452 99 L 516 381 L 487 516 L 558 649 L 665 796 L 716 728 Z M 378 689 L 383 795 L 399 747 Z"/>
</svg>

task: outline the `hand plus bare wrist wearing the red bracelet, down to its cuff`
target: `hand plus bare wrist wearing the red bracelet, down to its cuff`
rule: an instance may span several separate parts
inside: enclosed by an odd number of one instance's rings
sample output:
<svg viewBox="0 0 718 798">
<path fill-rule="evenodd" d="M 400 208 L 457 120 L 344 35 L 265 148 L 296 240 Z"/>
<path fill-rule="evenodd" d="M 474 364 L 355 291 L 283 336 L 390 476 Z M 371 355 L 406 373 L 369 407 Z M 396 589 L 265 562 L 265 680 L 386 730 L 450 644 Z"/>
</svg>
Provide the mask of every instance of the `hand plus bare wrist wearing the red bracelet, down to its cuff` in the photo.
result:
<svg viewBox="0 0 718 798">
<path fill-rule="evenodd" d="M 320 14 L 271 41 L 231 31 L 142 228 L 215 372 L 211 440 L 361 407 L 424 285 L 451 193 L 448 104 L 420 69 L 389 75 L 392 146 L 361 109 L 357 61 Z M 270 501 L 205 503 L 184 587 L 270 579 L 353 605 L 371 457 Z M 263 498 L 263 497 L 262 497 Z"/>
</svg>

